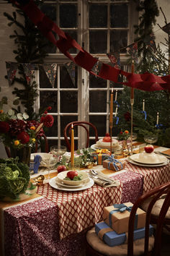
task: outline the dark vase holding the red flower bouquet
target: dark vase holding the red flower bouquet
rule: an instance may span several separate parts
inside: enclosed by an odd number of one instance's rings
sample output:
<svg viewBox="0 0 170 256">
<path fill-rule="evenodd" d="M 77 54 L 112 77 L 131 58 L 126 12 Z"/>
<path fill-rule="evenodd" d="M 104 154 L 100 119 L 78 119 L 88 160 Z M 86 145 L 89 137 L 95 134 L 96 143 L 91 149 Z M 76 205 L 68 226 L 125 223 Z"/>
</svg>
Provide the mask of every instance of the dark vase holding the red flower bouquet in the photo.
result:
<svg viewBox="0 0 170 256">
<path fill-rule="evenodd" d="M 19 162 L 27 164 L 30 167 L 30 155 L 31 155 L 31 147 L 23 147 L 23 148 L 10 148 L 11 157 L 16 158 L 19 157 Z"/>
</svg>

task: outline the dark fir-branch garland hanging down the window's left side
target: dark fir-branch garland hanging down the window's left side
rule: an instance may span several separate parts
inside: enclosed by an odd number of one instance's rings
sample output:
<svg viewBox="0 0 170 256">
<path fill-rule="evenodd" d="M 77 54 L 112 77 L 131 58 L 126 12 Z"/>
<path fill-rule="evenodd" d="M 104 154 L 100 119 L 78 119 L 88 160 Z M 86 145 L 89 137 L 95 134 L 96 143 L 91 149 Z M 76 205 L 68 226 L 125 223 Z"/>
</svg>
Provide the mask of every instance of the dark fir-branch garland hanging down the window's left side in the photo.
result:
<svg viewBox="0 0 170 256">
<path fill-rule="evenodd" d="M 42 1 L 36 1 L 36 4 L 40 4 Z M 9 20 L 9 27 L 15 25 L 17 30 L 14 30 L 14 34 L 9 37 L 14 40 L 17 48 L 14 49 L 15 59 L 19 63 L 43 63 L 43 59 L 47 55 L 45 46 L 51 46 L 51 43 L 40 33 L 37 27 L 30 21 L 26 14 L 20 9 L 16 9 L 16 12 L 8 14 L 4 12 L 4 16 Z M 21 20 L 23 22 L 19 22 Z M 32 80 L 34 80 L 35 74 L 32 74 Z M 17 95 L 21 100 L 22 106 L 30 116 L 31 119 L 36 119 L 37 115 L 34 113 L 34 103 L 37 98 L 37 83 L 27 82 L 22 65 L 19 66 L 19 77 L 14 78 L 14 82 L 23 86 L 23 89 L 14 88 L 12 92 Z M 13 82 L 13 84 L 14 84 Z M 17 108 L 20 112 L 20 109 Z"/>
</svg>

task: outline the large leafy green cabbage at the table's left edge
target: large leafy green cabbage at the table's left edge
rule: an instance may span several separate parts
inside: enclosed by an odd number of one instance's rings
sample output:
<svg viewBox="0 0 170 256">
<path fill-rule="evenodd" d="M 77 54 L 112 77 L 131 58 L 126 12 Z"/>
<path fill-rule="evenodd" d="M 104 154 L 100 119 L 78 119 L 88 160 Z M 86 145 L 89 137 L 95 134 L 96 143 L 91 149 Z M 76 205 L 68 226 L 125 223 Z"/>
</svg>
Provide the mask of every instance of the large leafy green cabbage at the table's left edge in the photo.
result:
<svg viewBox="0 0 170 256">
<path fill-rule="evenodd" d="M 0 198 L 17 198 L 30 182 L 29 167 L 17 158 L 0 159 Z"/>
</svg>

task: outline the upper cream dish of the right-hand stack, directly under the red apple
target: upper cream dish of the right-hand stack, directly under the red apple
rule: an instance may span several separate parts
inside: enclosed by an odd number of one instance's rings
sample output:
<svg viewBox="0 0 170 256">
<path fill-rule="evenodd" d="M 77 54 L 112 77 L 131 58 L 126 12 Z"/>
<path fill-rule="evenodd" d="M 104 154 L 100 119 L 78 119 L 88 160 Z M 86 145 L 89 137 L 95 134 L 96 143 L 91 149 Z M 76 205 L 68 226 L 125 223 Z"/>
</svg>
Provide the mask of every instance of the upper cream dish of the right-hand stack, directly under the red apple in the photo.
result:
<svg viewBox="0 0 170 256">
<path fill-rule="evenodd" d="M 155 153 L 138 153 L 130 155 L 130 159 L 137 163 L 149 165 L 161 164 L 167 161 L 167 158 L 164 155 L 156 155 Z"/>
</svg>

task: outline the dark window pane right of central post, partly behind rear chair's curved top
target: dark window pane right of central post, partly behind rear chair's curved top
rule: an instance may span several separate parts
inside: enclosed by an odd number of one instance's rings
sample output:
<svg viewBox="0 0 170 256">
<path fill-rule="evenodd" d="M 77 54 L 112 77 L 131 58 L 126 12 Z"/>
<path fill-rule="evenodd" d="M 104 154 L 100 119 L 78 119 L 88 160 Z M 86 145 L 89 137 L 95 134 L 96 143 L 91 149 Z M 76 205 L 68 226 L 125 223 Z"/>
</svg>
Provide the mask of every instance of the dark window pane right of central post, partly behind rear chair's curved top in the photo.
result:
<svg viewBox="0 0 170 256">
<path fill-rule="evenodd" d="M 89 122 L 97 127 L 98 136 L 104 137 L 106 133 L 107 116 L 89 116 Z M 92 134 L 90 136 L 93 136 Z"/>
</svg>

